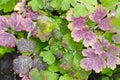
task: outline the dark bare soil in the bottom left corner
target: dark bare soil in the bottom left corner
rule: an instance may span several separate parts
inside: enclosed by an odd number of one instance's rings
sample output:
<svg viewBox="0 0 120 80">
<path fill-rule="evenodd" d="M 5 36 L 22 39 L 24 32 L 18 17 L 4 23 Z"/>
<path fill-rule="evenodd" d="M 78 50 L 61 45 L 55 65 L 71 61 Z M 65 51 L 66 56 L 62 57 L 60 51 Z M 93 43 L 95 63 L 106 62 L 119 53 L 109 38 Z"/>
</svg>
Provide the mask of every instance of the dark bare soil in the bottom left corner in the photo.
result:
<svg viewBox="0 0 120 80">
<path fill-rule="evenodd" d="M 17 53 L 7 53 L 0 59 L 0 80 L 14 80 L 13 59 L 17 57 Z M 16 80 L 21 80 L 16 76 Z"/>
</svg>

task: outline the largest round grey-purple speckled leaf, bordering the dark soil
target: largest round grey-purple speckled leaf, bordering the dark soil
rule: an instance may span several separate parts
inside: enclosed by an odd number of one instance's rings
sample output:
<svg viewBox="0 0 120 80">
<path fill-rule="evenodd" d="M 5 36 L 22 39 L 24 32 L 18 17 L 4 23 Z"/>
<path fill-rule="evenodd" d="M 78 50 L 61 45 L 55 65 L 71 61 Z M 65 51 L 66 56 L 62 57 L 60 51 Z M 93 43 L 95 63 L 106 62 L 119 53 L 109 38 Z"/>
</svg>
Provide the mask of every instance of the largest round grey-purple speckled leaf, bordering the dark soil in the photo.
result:
<svg viewBox="0 0 120 80">
<path fill-rule="evenodd" d="M 26 75 L 32 68 L 32 58 L 30 56 L 18 56 L 13 60 L 13 69 L 15 73 Z"/>
</svg>

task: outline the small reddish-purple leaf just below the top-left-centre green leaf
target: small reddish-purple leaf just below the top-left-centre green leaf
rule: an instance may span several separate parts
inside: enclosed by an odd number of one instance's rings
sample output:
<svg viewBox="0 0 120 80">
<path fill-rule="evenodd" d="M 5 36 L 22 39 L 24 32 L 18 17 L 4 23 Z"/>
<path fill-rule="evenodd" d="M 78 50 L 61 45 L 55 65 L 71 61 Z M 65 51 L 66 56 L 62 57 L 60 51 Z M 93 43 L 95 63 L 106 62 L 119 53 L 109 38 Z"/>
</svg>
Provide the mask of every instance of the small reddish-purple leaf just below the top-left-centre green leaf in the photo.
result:
<svg viewBox="0 0 120 80">
<path fill-rule="evenodd" d="M 27 9 L 27 13 L 25 14 L 26 18 L 30 18 L 31 20 L 36 20 L 38 18 L 38 13 L 37 12 L 33 12 L 33 10 L 29 7 Z"/>
</svg>

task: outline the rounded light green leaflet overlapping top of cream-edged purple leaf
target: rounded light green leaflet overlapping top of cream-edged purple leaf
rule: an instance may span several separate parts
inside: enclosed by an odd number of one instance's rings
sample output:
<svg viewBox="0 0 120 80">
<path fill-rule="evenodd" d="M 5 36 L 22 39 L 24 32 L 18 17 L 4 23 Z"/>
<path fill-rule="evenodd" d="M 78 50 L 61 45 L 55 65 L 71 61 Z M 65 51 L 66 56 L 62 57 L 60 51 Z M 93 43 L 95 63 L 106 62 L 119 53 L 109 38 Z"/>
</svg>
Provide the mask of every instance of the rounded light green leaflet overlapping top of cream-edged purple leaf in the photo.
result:
<svg viewBox="0 0 120 80">
<path fill-rule="evenodd" d="M 77 4 L 74 8 L 74 16 L 75 17 L 85 17 L 88 15 L 88 10 L 85 5 L 83 4 Z"/>
</svg>

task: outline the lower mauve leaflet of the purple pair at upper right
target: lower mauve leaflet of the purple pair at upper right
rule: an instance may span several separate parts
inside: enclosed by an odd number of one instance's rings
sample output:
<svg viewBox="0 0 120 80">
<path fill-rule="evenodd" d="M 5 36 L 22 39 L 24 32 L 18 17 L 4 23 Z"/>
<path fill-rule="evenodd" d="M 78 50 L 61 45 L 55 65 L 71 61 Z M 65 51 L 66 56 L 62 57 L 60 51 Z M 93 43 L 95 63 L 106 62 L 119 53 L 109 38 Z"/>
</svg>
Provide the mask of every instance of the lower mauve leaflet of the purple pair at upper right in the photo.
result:
<svg viewBox="0 0 120 80">
<path fill-rule="evenodd" d="M 101 21 L 99 21 L 99 28 L 103 31 L 110 30 L 110 28 L 112 27 L 110 20 L 110 18 L 104 18 Z"/>
</svg>

